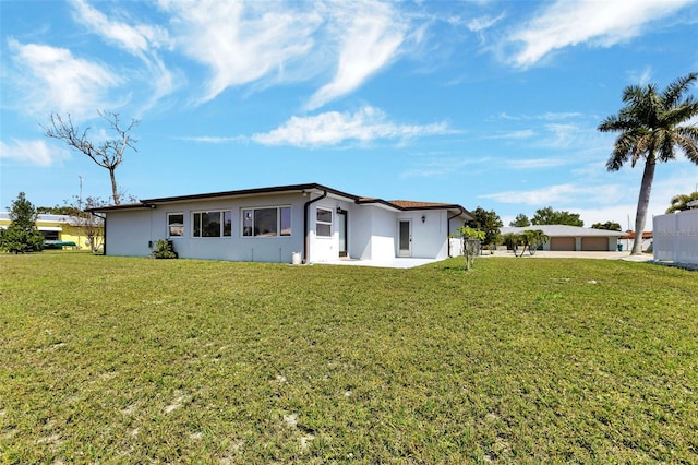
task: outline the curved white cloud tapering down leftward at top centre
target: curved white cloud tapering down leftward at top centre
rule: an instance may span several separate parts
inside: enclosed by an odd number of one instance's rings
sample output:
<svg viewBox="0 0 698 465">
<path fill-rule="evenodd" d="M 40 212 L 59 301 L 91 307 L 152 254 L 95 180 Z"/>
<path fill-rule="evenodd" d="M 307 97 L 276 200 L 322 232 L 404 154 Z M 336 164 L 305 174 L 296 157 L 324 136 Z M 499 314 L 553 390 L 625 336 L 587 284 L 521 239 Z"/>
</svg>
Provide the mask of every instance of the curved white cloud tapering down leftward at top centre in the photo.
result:
<svg viewBox="0 0 698 465">
<path fill-rule="evenodd" d="M 333 80 L 313 94 L 306 109 L 322 107 L 341 97 L 383 69 L 397 55 L 407 24 L 389 3 L 334 3 L 336 34 L 341 37 L 337 70 Z"/>
</svg>

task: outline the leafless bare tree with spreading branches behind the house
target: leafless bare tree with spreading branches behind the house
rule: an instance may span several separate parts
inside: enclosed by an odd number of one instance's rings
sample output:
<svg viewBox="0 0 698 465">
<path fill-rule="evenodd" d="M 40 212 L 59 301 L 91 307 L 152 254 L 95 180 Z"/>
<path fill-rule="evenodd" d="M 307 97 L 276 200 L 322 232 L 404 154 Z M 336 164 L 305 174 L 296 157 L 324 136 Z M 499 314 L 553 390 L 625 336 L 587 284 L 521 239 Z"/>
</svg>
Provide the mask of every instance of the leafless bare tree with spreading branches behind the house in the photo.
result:
<svg viewBox="0 0 698 465">
<path fill-rule="evenodd" d="M 109 122 L 112 131 L 117 133 L 116 138 L 108 139 L 99 144 L 94 144 L 87 139 L 89 128 L 81 132 L 80 128 L 73 124 L 70 114 L 68 114 L 65 119 L 58 114 L 51 114 L 50 124 L 46 127 L 41 126 L 41 129 L 44 129 L 44 135 L 47 138 L 65 142 L 69 146 L 87 155 L 97 165 L 106 168 L 109 171 L 109 178 L 111 180 L 113 203 L 115 205 L 119 205 L 121 201 L 115 171 L 123 160 L 123 153 L 127 148 L 132 148 L 134 152 L 137 152 L 135 148 L 137 141 L 129 132 L 139 124 L 139 121 L 132 119 L 127 128 L 122 128 L 119 123 L 119 114 L 110 111 L 97 112 Z"/>
</svg>

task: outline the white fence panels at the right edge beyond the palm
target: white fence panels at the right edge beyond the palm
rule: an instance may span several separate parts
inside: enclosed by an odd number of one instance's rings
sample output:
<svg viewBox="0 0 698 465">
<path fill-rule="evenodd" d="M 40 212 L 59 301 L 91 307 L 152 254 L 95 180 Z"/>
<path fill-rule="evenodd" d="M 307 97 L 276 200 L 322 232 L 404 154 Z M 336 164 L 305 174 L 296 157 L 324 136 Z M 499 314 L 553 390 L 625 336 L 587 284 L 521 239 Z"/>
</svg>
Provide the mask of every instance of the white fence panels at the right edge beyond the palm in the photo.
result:
<svg viewBox="0 0 698 465">
<path fill-rule="evenodd" d="M 654 260 L 698 264 L 698 210 L 654 216 Z"/>
</svg>

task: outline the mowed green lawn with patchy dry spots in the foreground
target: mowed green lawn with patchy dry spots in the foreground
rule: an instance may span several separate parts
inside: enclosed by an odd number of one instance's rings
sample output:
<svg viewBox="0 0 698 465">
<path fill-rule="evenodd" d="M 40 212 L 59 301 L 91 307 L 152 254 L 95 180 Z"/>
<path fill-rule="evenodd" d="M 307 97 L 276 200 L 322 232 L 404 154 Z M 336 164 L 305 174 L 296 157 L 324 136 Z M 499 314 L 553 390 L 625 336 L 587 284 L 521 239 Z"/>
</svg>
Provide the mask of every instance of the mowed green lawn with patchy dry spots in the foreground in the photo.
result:
<svg viewBox="0 0 698 465">
<path fill-rule="evenodd" d="M 2 463 L 696 463 L 698 275 L 0 257 Z"/>
</svg>

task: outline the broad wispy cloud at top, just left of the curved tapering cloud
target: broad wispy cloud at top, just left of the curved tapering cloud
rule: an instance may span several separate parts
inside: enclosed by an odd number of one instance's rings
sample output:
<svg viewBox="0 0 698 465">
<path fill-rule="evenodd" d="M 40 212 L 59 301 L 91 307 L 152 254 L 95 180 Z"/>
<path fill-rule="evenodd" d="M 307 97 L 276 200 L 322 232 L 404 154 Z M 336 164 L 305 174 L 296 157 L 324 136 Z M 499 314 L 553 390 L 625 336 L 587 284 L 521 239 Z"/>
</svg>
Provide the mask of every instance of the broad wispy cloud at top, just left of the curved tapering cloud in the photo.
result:
<svg viewBox="0 0 698 465">
<path fill-rule="evenodd" d="M 284 10 L 284 3 L 241 1 L 161 1 L 172 14 L 176 46 L 206 65 L 210 78 L 201 102 L 230 86 L 281 79 L 285 67 L 312 49 L 321 16 Z"/>
</svg>

